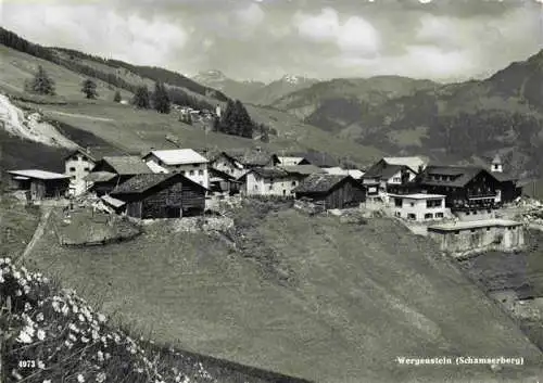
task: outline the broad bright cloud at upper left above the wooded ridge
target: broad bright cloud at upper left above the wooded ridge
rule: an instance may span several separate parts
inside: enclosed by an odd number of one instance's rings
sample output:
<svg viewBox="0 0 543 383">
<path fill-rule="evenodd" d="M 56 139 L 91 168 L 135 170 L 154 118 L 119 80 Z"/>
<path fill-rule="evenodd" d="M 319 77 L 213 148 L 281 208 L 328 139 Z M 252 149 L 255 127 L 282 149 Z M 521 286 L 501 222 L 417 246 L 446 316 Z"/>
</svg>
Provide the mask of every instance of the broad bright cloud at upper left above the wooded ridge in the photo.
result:
<svg viewBox="0 0 543 383">
<path fill-rule="evenodd" d="M 163 65 L 182 50 L 188 33 L 179 23 L 136 13 L 119 15 L 99 3 L 7 3 L 4 26 L 48 46 L 81 49 L 143 65 Z M 177 53 L 174 53 L 177 52 Z"/>
</svg>

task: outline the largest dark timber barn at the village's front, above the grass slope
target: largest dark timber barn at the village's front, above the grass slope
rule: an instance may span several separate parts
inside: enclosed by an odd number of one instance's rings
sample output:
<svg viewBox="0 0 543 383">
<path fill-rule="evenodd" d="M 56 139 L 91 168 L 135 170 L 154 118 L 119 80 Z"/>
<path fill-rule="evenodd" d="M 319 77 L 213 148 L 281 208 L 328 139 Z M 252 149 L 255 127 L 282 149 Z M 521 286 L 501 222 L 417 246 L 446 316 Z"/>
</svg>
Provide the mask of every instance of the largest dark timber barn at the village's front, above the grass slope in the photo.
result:
<svg viewBox="0 0 543 383">
<path fill-rule="evenodd" d="M 134 218 L 180 218 L 203 214 L 206 191 L 178 173 L 142 174 L 116 187 L 111 196 L 124 201 Z"/>
</svg>

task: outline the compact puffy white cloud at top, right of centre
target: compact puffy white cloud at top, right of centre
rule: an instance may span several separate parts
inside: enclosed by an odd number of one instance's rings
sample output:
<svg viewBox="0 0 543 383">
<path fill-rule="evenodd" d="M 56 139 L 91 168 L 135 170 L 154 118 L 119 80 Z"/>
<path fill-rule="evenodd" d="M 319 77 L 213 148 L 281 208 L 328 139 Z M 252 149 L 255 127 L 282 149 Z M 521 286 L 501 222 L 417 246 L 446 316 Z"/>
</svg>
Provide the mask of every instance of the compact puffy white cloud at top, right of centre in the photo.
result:
<svg viewBox="0 0 543 383">
<path fill-rule="evenodd" d="M 379 33 L 362 16 L 350 16 L 341 22 L 336 10 L 325 8 L 317 15 L 298 13 L 293 22 L 301 37 L 333 42 L 348 54 L 371 54 L 379 49 Z"/>
</svg>

